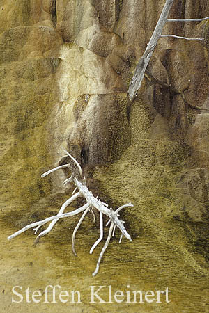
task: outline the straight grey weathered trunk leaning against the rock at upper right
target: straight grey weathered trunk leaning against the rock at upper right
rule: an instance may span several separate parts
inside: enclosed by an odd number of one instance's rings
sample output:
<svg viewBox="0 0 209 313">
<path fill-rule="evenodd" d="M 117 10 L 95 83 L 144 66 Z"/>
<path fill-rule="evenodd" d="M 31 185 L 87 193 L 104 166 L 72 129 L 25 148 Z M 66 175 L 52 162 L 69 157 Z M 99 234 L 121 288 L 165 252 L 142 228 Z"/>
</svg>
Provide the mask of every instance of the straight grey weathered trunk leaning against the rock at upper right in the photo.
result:
<svg viewBox="0 0 209 313">
<path fill-rule="evenodd" d="M 167 22 L 167 17 L 169 15 L 169 10 L 171 9 L 173 1 L 174 0 L 166 0 L 160 18 L 158 19 L 157 25 L 155 26 L 155 30 L 153 31 L 153 35 L 150 38 L 150 41 L 148 42 L 148 46 L 146 47 L 143 56 L 141 56 L 139 60 L 139 63 L 134 72 L 134 76 L 132 77 L 132 81 L 130 82 L 130 86 L 127 92 L 131 101 L 134 99 L 135 95 L 137 94 L 137 91 L 141 86 L 141 81 L 144 77 L 144 72 L 150 61 L 153 51 L 157 45 L 157 42 L 160 39 L 160 36 L 162 34 L 162 28 L 164 24 Z"/>
</svg>

